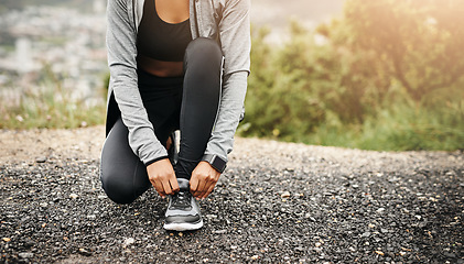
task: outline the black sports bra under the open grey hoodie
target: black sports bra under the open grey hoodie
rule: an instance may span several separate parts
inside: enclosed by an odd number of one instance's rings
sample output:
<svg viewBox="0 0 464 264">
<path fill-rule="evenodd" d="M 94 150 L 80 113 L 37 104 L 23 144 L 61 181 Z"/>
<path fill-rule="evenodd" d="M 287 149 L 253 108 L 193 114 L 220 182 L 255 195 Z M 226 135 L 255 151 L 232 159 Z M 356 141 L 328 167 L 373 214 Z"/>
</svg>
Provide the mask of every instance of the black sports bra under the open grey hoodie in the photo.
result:
<svg viewBox="0 0 464 264">
<path fill-rule="evenodd" d="M 163 62 L 183 62 L 185 48 L 192 41 L 190 19 L 168 23 L 158 15 L 154 1 L 145 0 L 143 4 L 137 35 L 138 53 Z"/>
</svg>

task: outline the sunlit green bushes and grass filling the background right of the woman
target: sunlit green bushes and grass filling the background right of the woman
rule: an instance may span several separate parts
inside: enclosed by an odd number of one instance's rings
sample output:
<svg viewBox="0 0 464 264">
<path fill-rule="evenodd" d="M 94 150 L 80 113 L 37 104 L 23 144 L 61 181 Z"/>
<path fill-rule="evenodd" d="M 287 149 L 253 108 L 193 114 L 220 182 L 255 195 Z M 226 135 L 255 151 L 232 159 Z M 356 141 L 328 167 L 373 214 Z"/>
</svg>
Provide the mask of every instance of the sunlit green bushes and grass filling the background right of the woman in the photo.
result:
<svg viewBox="0 0 464 264">
<path fill-rule="evenodd" d="M 456 1 L 347 0 L 272 46 L 253 30 L 242 135 L 369 150 L 464 148 L 464 24 Z M 323 36 L 325 43 L 315 43 Z"/>
</svg>

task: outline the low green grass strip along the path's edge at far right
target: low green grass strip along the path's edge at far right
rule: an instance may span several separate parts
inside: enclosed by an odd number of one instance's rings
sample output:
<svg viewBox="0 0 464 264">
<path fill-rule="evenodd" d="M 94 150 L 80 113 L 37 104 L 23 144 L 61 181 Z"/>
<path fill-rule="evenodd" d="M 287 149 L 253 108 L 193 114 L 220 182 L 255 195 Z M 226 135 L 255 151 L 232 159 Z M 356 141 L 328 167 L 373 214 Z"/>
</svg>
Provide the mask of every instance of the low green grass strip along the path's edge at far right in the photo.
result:
<svg viewBox="0 0 464 264">
<path fill-rule="evenodd" d="M 374 151 L 464 150 L 464 116 L 399 107 L 362 124 L 320 125 L 303 142 Z"/>
</svg>

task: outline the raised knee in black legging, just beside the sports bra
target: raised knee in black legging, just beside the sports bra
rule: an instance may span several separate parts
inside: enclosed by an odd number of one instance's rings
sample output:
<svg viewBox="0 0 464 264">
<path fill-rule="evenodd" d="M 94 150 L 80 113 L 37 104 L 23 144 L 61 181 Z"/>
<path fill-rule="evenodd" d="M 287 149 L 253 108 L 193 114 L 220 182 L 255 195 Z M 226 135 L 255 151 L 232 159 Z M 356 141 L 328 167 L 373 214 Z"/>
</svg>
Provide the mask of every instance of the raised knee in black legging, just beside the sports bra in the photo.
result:
<svg viewBox="0 0 464 264">
<path fill-rule="evenodd" d="M 193 40 L 185 51 L 186 62 L 201 61 L 202 64 L 219 63 L 223 52 L 216 41 L 207 37 Z"/>
</svg>

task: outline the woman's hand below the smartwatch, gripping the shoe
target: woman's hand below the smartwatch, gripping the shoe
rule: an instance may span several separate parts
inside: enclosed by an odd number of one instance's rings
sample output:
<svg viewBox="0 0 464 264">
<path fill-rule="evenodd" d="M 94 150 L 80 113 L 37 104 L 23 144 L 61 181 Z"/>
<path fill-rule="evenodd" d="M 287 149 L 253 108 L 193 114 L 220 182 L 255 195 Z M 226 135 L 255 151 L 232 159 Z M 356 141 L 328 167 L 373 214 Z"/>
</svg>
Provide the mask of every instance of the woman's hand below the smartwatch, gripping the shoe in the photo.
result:
<svg viewBox="0 0 464 264">
<path fill-rule="evenodd" d="M 191 193 L 197 199 L 206 198 L 216 186 L 220 173 L 207 162 L 201 162 L 192 173 Z"/>
</svg>

